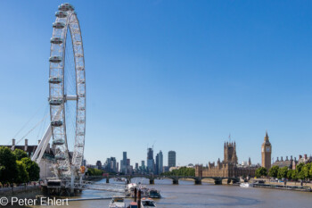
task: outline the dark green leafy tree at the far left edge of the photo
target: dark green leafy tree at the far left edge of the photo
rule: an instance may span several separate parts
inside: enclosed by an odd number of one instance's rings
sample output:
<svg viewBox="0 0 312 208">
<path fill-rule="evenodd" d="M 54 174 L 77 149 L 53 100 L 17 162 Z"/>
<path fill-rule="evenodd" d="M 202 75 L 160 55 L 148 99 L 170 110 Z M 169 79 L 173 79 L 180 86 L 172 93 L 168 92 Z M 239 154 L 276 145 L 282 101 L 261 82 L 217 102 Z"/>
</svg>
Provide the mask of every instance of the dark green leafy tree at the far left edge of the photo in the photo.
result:
<svg viewBox="0 0 312 208">
<path fill-rule="evenodd" d="M 0 182 L 4 185 L 12 183 L 17 178 L 16 157 L 11 149 L 0 147 Z"/>
</svg>

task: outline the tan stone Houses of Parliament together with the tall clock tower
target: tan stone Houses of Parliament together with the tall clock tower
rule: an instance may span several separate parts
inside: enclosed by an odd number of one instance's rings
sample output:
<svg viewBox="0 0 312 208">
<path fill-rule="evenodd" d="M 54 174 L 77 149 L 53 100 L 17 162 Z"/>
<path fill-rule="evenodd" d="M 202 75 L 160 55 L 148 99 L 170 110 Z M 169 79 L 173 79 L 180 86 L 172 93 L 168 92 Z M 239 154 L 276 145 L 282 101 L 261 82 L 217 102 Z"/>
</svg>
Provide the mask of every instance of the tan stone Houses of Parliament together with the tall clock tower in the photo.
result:
<svg viewBox="0 0 312 208">
<path fill-rule="evenodd" d="M 272 146 L 268 140 L 267 132 L 264 138 L 264 142 L 261 146 L 261 166 L 267 168 L 271 167 L 271 153 Z M 255 177 L 256 170 L 259 165 L 251 165 L 251 161 L 247 164 L 238 164 L 238 158 L 236 154 L 236 143 L 225 142 L 224 144 L 224 159 L 221 162 L 218 159 L 217 164 L 215 162 L 209 162 L 208 167 L 202 167 L 202 165 L 195 166 L 196 177 L 219 177 L 219 178 L 238 178 L 238 177 Z"/>
</svg>

